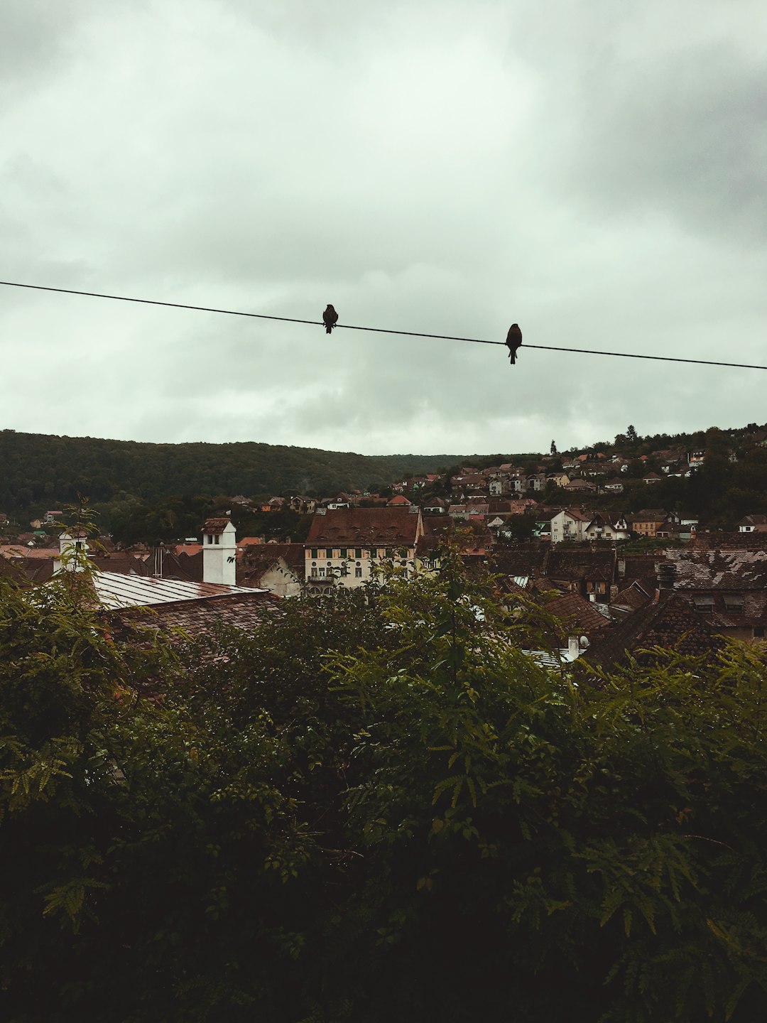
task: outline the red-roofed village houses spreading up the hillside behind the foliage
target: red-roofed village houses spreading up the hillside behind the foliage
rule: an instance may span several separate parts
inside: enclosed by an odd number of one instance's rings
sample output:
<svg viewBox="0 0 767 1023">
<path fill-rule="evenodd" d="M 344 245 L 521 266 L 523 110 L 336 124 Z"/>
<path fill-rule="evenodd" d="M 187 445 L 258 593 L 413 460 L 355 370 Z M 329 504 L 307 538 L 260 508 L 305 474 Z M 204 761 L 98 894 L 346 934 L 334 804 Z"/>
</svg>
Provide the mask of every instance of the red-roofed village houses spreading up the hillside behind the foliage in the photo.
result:
<svg viewBox="0 0 767 1023">
<path fill-rule="evenodd" d="M 767 431 L 749 441 L 749 457 L 756 452 L 760 464 Z M 223 618 L 247 627 L 281 599 L 363 586 L 385 567 L 405 578 L 439 571 L 449 542 L 466 566 L 489 570 L 502 591 L 526 594 L 561 623 L 550 640 L 566 660 L 606 666 L 626 651 L 680 637 L 693 653 L 714 649 L 719 636 L 764 638 L 767 515 L 751 510 L 721 530 L 653 499 L 671 481 L 703 478 L 717 458 L 737 462 L 733 449 L 665 448 L 629 458 L 551 448 L 525 464 L 398 480 L 382 494 L 266 501 L 236 494 L 230 508 L 200 523 L 199 536 L 178 542 L 121 545 L 70 533 L 56 508 L 28 531 L 1 516 L 0 572 L 41 584 L 61 571 L 69 549 L 83 546 L 106 607 L 151 606 L 173 626 L 205 628 Z M 645 506 L 629 510 L 637 504 Z M 233 509 L 289 509 L 307 517 L 308 532 L 301 541 L 237 535 Z"/>
</svg>

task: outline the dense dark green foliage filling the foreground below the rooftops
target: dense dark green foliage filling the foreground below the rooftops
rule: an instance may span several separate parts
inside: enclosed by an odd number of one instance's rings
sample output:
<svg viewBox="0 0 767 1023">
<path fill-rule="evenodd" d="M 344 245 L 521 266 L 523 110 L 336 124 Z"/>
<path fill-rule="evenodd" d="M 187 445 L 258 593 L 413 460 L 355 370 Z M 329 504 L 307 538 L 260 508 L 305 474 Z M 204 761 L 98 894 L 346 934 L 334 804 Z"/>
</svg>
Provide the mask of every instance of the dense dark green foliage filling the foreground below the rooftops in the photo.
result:
<svg viewBox="0 0 767 1023">
<path fill-rule="evenodd" d="M 764 648 L 570 677 L 442 565 L 175 653 L 3 586 L 0 1017 L 764 1016 Z"/>
</svg>

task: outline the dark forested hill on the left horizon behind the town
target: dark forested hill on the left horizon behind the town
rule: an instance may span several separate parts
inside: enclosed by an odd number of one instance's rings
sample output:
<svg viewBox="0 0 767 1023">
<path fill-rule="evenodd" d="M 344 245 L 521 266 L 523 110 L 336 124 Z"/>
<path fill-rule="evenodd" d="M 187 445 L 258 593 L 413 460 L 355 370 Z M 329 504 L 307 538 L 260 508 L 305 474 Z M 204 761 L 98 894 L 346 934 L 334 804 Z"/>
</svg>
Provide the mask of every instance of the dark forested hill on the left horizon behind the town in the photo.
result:
<svg viewBox="0 0 767 1023">
<path fill-rule="evenodd" d="M 351 451 L 245 442 L 148 444 L 0 432 L 0 509 L 39 501 L 92 501 L 132 495 L 156 501 L 170 494 L 245 494 L 284 491 L 332 494 L 385 486 L 408 474 L 433 473 L 459 455 L 361 455 Z"/>
</svg>

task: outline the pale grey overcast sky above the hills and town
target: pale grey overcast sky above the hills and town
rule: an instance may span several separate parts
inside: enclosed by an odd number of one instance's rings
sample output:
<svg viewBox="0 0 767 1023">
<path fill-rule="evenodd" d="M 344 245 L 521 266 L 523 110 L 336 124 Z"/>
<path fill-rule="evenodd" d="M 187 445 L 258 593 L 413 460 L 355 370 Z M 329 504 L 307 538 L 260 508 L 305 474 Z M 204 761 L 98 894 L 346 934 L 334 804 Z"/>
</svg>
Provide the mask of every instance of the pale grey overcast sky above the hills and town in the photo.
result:
<svg viewBox="0 0 767 1023">
<path fill-rule="evenodd" d="M 763 0 L 2 0 L 0 278 L 767 365 Z M 767 372 L 0 286 L 0 428 L 366 454 L 767 419 Z"/>
</svg>

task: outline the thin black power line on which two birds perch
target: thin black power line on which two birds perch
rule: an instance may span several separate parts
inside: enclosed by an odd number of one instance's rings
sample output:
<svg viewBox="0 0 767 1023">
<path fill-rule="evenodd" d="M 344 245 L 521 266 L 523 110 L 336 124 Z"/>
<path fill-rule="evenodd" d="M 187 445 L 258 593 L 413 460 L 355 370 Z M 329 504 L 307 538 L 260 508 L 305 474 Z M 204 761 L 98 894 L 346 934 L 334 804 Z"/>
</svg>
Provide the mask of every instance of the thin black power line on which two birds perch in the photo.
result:
<svg viewBox="0 0 767 1023">
<path fill-rule="evenodd" d="M 0 280 L 6 287 L 29 287 L 37 292 L 57 292 L 60 295 L 82 295 L 89 299 L 111 299 L 115 302 L 137 302 L 145 306 L 165 306 L 169 309 L 191 309 L 200 313 L 222 313 L 225 316 L 250 316 L 253 319 L 279 320 L 281 323 L 308 323 L 311 326 L 323 326 L 321 320 L 296 319 L 292 316 L 268 316 L 266 313 L 246 313 L 239 309 L 217 309 L 213 306 L 190 306 L 181 302 L 161 302 L 159 299 L 135 299 L 128 295 L 104 295 L 100 292 L 78 292 L 72 287 L 47 287 L 45 284 L 21 284 L 14 280 Z M 457 338 L 448 333 L 422 333 L 419 330 L 393 330 L 384 326 L 355 326 L 351 323 L 336 323 L 334 330 L 368 330 L 373 333 L 396 333 L 405 338 L 432 338 L 436 341 L 465 341 L 472 345 L 502 345 L 502 341 L 487 341 L 484 338 Z M 767 369 L 767 366 L 755 366 L 746 362 L 713 362 L 710 359 L 682 359 L 675 355 L 645 355 L 637 352 L 604 352 L 593 348 L 558 348 L 553 345 L 528 345 L 523 348 L 536 348 L 544 352 L 576 352 L 579 355 L 611 355 L 621 359 L 653 359 L 657 362 L 688 362 L 697 366 L 729 366 L 731 369 Z"/>
</svg>

